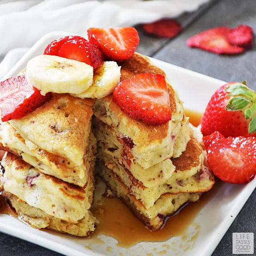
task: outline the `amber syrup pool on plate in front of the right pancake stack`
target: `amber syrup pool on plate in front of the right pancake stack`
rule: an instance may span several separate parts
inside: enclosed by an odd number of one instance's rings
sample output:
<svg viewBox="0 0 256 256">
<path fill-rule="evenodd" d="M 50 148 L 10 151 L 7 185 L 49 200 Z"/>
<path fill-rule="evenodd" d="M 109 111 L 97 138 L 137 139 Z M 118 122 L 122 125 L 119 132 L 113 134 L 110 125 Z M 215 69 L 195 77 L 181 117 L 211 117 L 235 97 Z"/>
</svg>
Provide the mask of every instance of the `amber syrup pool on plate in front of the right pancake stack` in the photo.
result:
<svg viewBox="0 0 256 256">
<path fill-rule="evenodd" d="M 139 221 L 119 198 L 102 198 L 102 205 L 95 205 L 93 215 L 99 220 L 91 237 L 111 236 L 119 241 L 120 247 L 131 247 L 139 242 L 163 242 L 173 236 L 186 235 L 188 227 L 205 204 L 218 192 L 217 182 L 213 188 L 202 195 L 198 202 L 185 204 L 174 215 L 166 217 L 160 230 L 151 232 Z M 98 208 L 103 209 L 97 211 Z"/>
</svg>

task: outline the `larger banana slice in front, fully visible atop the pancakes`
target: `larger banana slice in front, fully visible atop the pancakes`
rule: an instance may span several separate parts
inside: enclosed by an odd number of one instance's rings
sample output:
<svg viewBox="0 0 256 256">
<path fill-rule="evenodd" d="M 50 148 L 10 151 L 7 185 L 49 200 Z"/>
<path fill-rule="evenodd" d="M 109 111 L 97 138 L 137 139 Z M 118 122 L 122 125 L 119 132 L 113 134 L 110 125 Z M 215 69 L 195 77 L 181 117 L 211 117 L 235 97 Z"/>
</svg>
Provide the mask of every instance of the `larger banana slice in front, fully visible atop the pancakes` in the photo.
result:
<svg viewBox="0 0 256 256">
<path fill-rule="evenodd" d="M 93 82 L 93 67 L 84 62 L 52 55 L 32 58 L 26 67 L 27 81 L 41 94 L 86 91 Z"/>
</svg>

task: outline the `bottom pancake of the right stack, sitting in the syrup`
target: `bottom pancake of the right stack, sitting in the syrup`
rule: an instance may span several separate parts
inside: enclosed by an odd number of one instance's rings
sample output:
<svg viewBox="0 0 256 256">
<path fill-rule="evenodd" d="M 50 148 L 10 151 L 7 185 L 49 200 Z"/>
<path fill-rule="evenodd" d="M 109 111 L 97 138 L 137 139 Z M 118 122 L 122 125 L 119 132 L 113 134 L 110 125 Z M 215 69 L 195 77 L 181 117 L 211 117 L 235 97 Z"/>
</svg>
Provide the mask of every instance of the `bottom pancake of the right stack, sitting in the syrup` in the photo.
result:
<svg viewBox="0 0 256 256">
<path fill-rule="evenodd" d="M 124 201 L 134 215 L 152 231 L 162 227 L 166 216 L 176 212 L 186 202 L 198 201 L 202 195 L 202 192 L 179 193 L 176 195 L 166 193 L 161 195 L 151 208 L 145 209 L 141 201 L 129 193 L 125 184 L 110 169 L 99 163 L 98 170 L 99 175 L 111 187 L 114 195 Z"/>
</svg>

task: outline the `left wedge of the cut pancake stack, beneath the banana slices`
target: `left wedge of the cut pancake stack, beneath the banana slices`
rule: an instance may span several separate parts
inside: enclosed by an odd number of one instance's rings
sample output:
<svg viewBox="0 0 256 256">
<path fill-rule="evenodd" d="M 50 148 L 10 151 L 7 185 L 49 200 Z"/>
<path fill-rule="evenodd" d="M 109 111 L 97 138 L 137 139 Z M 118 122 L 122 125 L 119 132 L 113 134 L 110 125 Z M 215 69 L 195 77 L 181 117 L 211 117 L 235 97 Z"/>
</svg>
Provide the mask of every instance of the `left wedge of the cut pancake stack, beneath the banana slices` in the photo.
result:
<svg viewBox="0 0 256 256">
<path fill-rule="evenodd" d="M 0 124 L 1 195 L 36 228 L 75 236 L 94 230 L 94 100 L 53 94 L 32 113 Z"/>
</svg>

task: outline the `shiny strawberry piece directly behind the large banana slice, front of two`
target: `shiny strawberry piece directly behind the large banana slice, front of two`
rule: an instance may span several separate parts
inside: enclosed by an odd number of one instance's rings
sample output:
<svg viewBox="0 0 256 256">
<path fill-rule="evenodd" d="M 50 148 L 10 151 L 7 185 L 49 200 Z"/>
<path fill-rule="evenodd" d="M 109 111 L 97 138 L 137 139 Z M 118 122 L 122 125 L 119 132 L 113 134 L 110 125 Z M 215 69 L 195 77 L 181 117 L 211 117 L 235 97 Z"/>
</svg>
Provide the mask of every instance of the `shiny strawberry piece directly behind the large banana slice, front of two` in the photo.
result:
<svg viewBox="0 0 256 256">
<path fill-rule="evenodd" d="M 67 41 L 60 47 L 58 56 L 84 62 L 94 69 L 101 67 L 104 59 L 102 52 L 85 39 Z"/>
</svg>

